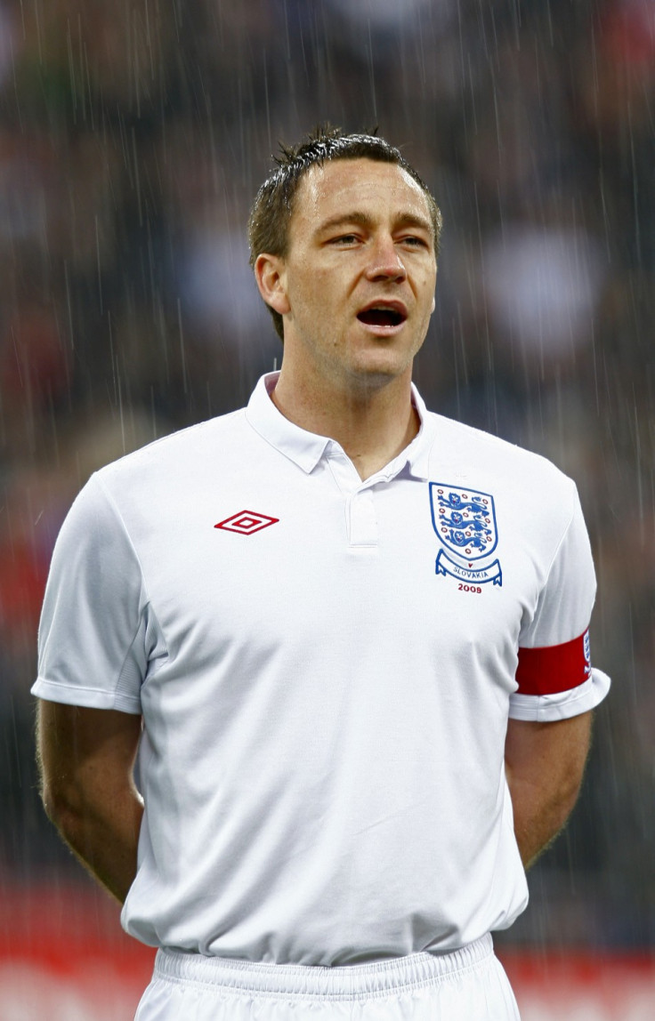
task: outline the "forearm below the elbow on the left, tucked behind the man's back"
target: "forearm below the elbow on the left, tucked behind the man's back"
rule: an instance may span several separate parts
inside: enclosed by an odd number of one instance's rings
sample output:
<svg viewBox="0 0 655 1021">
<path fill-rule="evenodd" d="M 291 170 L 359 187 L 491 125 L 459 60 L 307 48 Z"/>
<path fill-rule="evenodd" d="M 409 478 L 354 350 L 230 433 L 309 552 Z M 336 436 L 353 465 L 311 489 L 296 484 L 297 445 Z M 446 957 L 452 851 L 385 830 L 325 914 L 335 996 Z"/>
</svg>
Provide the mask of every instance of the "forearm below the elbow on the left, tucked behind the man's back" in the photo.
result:
<svg viewBox="0 0 655 1021">
<path fill-rule="evenodd" d="M 46 812 L 82 865 L 123 904 L 137 871 L 143 803 L 134 786 L 109 801 L 71 796 Z"/>
</svg>

